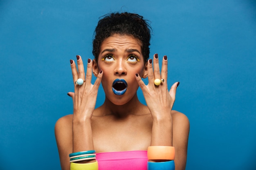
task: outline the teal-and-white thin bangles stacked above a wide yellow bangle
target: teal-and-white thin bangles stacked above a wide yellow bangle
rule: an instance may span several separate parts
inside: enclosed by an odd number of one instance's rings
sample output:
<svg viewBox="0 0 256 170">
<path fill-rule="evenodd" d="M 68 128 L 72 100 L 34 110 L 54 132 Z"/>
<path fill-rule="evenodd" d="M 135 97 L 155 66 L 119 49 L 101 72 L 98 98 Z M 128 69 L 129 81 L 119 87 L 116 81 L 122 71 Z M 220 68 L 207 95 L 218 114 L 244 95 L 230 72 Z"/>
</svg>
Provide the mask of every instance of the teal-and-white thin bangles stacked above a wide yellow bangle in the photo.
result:
<svg viewBox="0 0 256 170">
<path fill-rule="evenodd" d="M 75 163 L 78 161 L 96 159 L 95 150 L 88 150 L 83 152 L 74 152 L 70 154 L 70 170 L 98 170 L 98 162 L 92 163 Z"/>
</svg>

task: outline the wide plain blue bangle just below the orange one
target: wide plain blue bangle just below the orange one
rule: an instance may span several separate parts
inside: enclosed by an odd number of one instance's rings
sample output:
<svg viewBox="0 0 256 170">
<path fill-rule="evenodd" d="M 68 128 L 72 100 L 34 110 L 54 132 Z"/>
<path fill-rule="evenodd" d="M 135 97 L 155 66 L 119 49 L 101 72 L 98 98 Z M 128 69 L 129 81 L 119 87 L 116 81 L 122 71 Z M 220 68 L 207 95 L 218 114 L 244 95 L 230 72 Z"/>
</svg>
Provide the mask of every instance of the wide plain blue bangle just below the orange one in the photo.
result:
<svg viewBox="0 0 256 170">
<path fill-rule="evenodd" d="M 175 170 L 174 161 L 148 162 L 148 170 Z"/>
</svg>

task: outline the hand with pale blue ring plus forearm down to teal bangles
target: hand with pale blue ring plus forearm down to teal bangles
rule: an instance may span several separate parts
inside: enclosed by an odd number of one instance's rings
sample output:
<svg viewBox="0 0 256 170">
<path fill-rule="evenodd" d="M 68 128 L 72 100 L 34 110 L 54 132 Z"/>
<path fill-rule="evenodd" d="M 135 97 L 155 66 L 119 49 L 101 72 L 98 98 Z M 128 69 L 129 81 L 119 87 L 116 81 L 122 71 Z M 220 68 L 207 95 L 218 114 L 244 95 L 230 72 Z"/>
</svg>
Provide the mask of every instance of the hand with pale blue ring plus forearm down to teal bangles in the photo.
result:
<svg viewBox="0 0 256 170">
<path fill-rule="evenodd" d="M 93 84 L 92 80 L 92 60 L 88 59 L 86 76 L 83 68 L 82 58 L 77 55 L 77 66 L 71 60 L 71 69 L 75 86 L 75 93 L 71 95 L 74 104 L 72 134 L 73 134 L 73 152 L 94 150 L 92 140 L 91 118 L 95 108 L 99 84 L 101 82 L 102 71 L 98 74 Z M 86 77 L 86 78 L 85 78 Z M 76 85 L 77 79 L 82 78 L 85 82 L 82 85 Z M 93 160 L 95 161 L 95 160 Z M 90 161 L 84 161 L 90 162 Z"/>
</svg>

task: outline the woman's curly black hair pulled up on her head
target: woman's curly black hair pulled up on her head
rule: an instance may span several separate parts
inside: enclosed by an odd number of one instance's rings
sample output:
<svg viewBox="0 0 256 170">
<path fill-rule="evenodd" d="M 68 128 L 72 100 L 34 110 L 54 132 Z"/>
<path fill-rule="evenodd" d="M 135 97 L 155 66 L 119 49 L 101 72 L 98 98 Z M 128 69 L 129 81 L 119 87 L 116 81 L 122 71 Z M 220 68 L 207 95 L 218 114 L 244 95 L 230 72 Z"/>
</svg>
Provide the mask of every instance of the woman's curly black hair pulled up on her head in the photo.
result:
<svg viewBox="0 0 256 170">
<path fill-rule="evenodd" d="M 114 34 L 131 35 L 141 41 L 141 51 L 144 62 L 149 57 L 150 24 L 141 15 L 135 13 L 110 13 L 104 15 L 98 22 L 94 31 L 92 54 L 98 62 L 101 43 Z"/>
</svg>

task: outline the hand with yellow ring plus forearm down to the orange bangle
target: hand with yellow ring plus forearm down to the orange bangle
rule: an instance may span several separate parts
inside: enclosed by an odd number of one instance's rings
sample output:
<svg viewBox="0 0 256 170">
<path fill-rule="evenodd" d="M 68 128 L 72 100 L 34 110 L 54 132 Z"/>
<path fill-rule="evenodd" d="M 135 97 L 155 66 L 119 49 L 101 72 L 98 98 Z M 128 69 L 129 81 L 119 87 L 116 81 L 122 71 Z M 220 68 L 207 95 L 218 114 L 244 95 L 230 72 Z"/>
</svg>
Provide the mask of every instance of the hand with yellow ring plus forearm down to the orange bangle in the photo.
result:
<svg viewBox="0 0 256 170">
<path fill-rule="evenodd" d="M 162 62 L 162 71 L 160 73 L 158 55 L 154 55 L 154 71 L 152 59 L 148 60 L 148 85 L 145 85 L 139 75 L 136 73 L 136 79 L 141 87 L 146 104 L 153 118 L 151 133 L 151 146 L 173 146 L 173 124 L 171 110 L 175 101 L 176 88 L 179 82 L 176 82 L 168 91 L 167 86 L 167 56 Z M 155 85 L 155 79 L 164 79 L 161 84 Z"/>
</svg>

